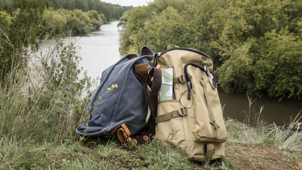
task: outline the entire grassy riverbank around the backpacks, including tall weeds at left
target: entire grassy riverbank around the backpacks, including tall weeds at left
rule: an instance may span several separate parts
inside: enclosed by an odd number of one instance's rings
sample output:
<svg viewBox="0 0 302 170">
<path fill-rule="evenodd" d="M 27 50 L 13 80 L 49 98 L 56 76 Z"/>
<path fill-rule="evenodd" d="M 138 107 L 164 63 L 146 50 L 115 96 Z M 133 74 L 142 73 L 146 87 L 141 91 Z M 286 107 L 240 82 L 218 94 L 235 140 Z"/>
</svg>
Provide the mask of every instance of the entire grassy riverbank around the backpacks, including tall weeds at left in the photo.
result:
<svg viewBox="0 0 302 170">
<path fill-rule="evenodd" d="M 70 72 L 68 67 L 65 72 Z M 81 138 L 75 128 L 84 118 L 91 95 L 87 92 L 85 98 L 80 97 L 85 89 L 78 90 L 78 80 L 68 82 L 71 77 L 63 77 L 64 83 L 49 84 L 47 75 L 51 74 L 41 76 L 43 81 L 27 77 L 30 74 L 21 75 L 24 82 L 42 84 L 28 86 L 20 80 L 0 90 L 0 169 L 302 168 L 302 132 L 291 130 L 301 118 L 293 120 L 289 127 L 267 124 L 261 119 L 254 126 L 226 119 L 229 139 L 225 143 L 225 157 L 196 163 L 158 140 L 136 146 L 121 145 L 108 138 Z M 28 89 L 26 95 L 20 86 Z"/>
</svg>

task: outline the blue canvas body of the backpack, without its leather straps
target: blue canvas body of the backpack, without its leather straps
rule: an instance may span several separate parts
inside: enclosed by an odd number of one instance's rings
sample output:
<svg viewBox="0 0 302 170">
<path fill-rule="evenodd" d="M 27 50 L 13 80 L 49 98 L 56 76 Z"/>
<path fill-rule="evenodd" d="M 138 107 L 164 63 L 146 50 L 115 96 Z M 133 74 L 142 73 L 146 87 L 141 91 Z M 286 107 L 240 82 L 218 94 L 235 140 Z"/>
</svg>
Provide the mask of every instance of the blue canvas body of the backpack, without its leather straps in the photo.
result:
<svg viewBox="0 0 302 170">
<path fill-rule="evenodd" d="M 105 69 L 100 85 L 89 106 L 88 119 L 76 132 L 83 136 L 109 136 L 118 126 L 125 124 L 132 135 L 146 126 L 148 103 L 145 82 L 138 77 L 136 67 L 145 66 L 154 58 L 154 52 L 146 46 L 140 55 L 127 54 L 116 64 Z"/>
</svg>

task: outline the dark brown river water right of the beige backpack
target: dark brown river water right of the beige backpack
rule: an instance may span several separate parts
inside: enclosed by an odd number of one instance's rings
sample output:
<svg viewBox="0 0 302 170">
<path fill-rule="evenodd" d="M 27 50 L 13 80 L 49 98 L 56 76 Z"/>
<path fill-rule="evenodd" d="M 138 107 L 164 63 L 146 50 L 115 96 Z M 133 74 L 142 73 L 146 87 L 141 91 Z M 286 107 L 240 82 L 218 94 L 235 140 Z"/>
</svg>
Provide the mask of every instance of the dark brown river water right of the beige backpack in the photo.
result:
<svg viewBox="0 0 302 170">
<path fill-rule="evenodd" d="M 245 93 L 226 94 L 222 90 L 218 90 L 220 102 L 224 105 L 224 117 L 246 121 L 249 114 L 249 99 Z M 251 97 L 250 97 L 251 98 Z M 260 118 L 267 123 L 276 123 L 276 125 L 288 124 L 302 110 L 302 101 L 296 99 L 283 99 L 273 97 L 252 97 L 255 102 L 251 105 L 250 118 L 251 121 L 258 117 L 260 107 L 263 106 Z M 302 114 L 302 112 L 301 112 Z M 302 116 L 300 114 L 300 116 Z M 300 120 L 301 122 L 302 120 Z"/>
</svg>

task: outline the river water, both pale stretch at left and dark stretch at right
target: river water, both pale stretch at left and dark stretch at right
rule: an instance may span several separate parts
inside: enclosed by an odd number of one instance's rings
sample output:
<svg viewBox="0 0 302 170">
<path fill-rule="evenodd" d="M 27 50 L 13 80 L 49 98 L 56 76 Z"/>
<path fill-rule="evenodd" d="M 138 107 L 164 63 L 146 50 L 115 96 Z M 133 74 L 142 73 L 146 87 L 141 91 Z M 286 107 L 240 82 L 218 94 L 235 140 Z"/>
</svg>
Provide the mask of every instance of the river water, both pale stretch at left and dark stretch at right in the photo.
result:
<svg viewBox="0 0 302 170">
<path fill-rule="evenodd" d="M 82 57 L 80 66 L 87 70 L 88 76 L 92 78 L 101 76 L 105 68 L 121 58 L 118 50 L 121 28 L 117 27 L 117 24 L 118 22 L 114 21 L 102 25 L 100 31 L 88 36 L 73 37 L 78 44 L 77 52 Z M 219 90 L 219 97 L 221 104 L 224 105 L 225 119 L 245 121 L 245 115 L 249 113 L 249 100 L 246 94 L 226 94 Z M 279 102 L 277 98 L 261 97 L 252 104 L 251 118 L 255 117 L 255 113 L 260 111 L 262 105 L 264 109 L 260 115 L 261 119 L 268 123 L 275 122 L 277 125 L 289 123 L 302 110 L 302 100 L 283 99 Z"/>
</svg>

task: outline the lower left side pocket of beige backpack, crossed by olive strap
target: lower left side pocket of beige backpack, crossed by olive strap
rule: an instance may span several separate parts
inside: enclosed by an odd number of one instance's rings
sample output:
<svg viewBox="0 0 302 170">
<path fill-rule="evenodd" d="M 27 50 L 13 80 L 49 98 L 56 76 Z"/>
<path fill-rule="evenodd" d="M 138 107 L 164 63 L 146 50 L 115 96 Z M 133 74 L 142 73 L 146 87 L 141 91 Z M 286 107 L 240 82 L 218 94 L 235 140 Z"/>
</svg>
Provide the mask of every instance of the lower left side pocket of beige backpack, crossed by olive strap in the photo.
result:
<svg viewBox="0 0 302 170">
<path fill-rule="evenodd" d="M 180 110 L 177 108 L 180 108 Z M 156 138 L 164 144 L 172 144 L 181 150 L 185 150 L 186 138 L 183 116 L 180 114 L 182 112 L 179 100 L 159 102 L 156 117 Z"/>
</svg>

